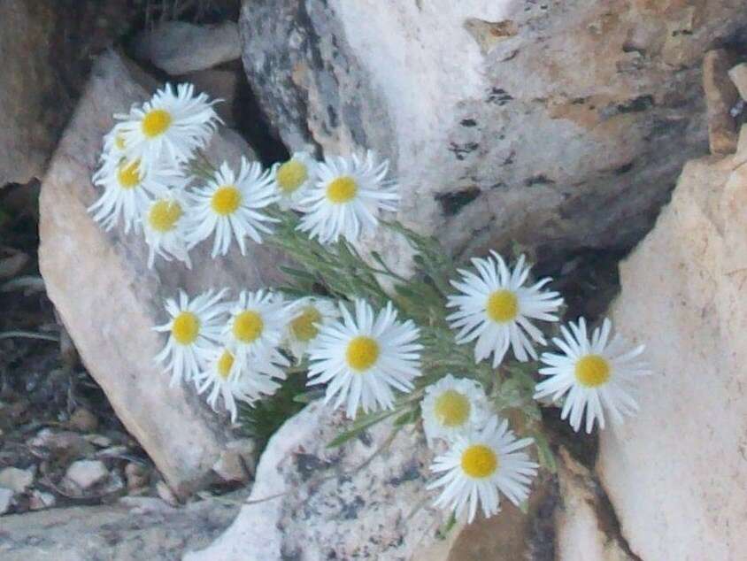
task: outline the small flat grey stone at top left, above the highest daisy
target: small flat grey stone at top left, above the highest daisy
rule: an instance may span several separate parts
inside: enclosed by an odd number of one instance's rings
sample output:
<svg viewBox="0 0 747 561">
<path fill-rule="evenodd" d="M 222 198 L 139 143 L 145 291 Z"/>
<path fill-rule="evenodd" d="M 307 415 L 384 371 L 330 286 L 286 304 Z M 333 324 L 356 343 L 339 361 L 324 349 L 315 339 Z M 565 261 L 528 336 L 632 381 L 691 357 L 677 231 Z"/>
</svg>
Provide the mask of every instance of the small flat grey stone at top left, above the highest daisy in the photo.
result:
<svg viewBox="0 0 747 561">
<path fill-rule="evenodd" d="M 235 22 L 197 26 L 186 21 L 166 21 L 135 37 L 135 56 L 176 76 L 204 70 L 241 57 Z"/>
</svg>

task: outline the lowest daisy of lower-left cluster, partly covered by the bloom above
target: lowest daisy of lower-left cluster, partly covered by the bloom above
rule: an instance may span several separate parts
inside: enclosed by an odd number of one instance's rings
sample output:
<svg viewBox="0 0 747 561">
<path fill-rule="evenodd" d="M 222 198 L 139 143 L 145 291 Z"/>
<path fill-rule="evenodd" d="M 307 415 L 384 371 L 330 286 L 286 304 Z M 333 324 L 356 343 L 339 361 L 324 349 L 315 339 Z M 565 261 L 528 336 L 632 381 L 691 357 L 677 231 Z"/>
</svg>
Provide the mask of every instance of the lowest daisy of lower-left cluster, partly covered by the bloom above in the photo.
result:
<svg viewBox="0 0 747 561">
<path fill-rule="evenodd" d="M 202 395 L 210 389 L 207 403 L 218 411 L 218 398 L 230 413 L 231 421 L 238 416 L 237 401 L 252 404 L 261 396 L 272 396 L 280 384 L 273 379 L 285 379 L 283 370 L 274 363 L 283 362 L 276 351 L 268 357 L 258 357 L 241 363 L 226 347 L 215 347 L 207 362 L 207 368 L 196 374 L 197 393 Z"/>
</svg>

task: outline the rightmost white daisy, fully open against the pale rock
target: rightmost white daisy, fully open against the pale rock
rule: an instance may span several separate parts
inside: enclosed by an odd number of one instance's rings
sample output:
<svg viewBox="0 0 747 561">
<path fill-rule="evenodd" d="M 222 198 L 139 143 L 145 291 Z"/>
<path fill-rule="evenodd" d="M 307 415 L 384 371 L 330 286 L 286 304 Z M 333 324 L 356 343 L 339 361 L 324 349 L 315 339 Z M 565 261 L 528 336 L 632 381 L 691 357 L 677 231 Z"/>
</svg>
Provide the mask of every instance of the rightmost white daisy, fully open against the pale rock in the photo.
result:
<svg viewBox="0 0 747 561">
<path fill-rule="evenodd" d="M 537 384 L 535 399 L 551 396 L 557 402 L 566 396 L 560 417 L 566 419 L 570 415 L 575 431 L 581 427 L 584 410 L 587 433 L 595 420 L 605 428 L 605 411 L 614 422 L 621 423 L 624 416 L 638 411 L 631 395 L 635 379 L 651 373 L 640 358 L 643 345 L 631 349 L 619 334 L 610 340 L 609 319 L 594 329 L 590 340 L 585 319 L 579 319 L 578 324 L 570 322 L 568 327 L 570 330 L 560 328 L 562 339 L 552 340 L 563 354 L 545 352 L 541 357 L 547 366 L 539 372 L 550 378 Z"/>
</svg>

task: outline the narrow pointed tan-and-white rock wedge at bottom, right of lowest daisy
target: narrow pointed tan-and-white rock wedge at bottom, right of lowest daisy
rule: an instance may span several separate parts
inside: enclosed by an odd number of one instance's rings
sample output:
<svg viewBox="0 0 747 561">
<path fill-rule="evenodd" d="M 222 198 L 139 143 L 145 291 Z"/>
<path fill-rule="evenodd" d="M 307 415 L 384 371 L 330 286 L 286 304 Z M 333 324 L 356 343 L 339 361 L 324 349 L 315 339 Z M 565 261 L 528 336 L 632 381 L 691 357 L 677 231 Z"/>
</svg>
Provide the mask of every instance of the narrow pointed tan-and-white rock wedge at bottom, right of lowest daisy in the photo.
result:
<svg viewBox="0 0 747 561">
<path fill-rule="evenodd" d="M 589 470 L 561 449 L 558 457 L 560 504 L 556 517 L 558 561 L 638 561 L 615 533 Z"/>
</svg>

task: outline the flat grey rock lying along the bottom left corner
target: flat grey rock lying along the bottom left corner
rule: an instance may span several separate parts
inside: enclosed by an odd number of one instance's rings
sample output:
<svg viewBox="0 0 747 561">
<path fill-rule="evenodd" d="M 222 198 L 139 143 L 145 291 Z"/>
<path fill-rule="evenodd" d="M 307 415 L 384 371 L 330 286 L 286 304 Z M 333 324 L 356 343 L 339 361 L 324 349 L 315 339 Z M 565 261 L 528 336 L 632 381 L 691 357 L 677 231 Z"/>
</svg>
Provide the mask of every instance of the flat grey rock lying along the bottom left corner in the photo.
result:
<svg viewBox="0 0 747 561">
<path fill-rule="evenodd" d="M 52 509 L 3 517 L 3 561 L 173 561 L 209 543 L 235 516 L 235 502 L 206 500 L 173 509 L 158 499 L 129 498 L 115 505 Z"/>
</svg>

